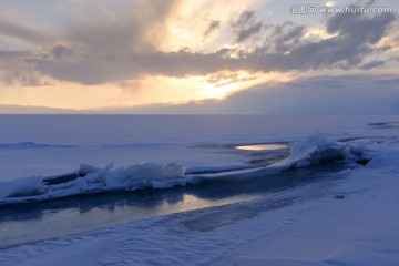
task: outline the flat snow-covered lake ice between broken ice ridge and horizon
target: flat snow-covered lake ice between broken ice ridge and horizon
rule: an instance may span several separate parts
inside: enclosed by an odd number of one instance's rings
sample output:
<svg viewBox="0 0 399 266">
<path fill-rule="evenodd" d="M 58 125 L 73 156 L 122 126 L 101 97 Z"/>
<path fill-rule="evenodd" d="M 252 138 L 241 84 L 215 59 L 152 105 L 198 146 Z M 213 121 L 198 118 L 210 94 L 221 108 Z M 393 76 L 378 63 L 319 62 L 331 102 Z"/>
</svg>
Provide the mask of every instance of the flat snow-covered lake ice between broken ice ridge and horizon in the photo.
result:
<svg viewBox="0 0 399 266">
<path fill-rule="evenodd" d="M 371 123 L 395 121 L 378 115 L 0 115 L 0 181 L 57 175 L 81 163 L 243 165 L 245 151 L 226 145 L 293 142 L 314 131 L 341 139 L 390 135 L 390 124 Z"/>
</svg>

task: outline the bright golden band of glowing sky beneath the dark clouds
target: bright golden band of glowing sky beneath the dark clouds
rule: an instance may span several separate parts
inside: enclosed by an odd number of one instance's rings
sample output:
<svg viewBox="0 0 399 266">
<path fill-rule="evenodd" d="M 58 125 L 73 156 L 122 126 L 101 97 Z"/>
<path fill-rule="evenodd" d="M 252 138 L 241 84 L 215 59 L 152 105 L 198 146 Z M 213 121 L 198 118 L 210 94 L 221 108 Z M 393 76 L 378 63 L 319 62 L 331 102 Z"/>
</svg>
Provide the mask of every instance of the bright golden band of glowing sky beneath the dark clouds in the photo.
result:
<svg viewBox="0 0 399 266">
<path fill-rule="evenodd" d="M 203 100 L 223 101 L 237 91 L 265 82 L 286 82 L 293 78 L 293 74 L 277 72 L 221 71 L 183 79 L 144 76 L 141 80 L 90 86 L 52 80 L 52 85 L 48 86 L 20 86 L 19 92 L 23 93 L 18 94 L 13 93 L 14 88 L 6 88 L 0 104 L 101 110 L 149 104 L 184 104 Z"/>
</svg>

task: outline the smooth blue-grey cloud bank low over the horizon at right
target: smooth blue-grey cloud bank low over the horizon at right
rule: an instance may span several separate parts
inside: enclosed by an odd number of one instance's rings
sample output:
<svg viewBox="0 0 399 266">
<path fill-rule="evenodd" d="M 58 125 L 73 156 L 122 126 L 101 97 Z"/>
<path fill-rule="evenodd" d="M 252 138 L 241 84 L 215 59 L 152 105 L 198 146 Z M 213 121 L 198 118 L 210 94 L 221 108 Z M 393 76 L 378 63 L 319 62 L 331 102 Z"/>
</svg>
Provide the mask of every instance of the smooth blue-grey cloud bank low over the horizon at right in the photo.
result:
<svg viewBox="0 0 399 266">
<path fill-rule="evenodd" d="M 399 114 L 396 76 L 339 75 L 266 83 L 223 101 L 113 109 L 115 113 L 186 114 Z"/>
</svg>

